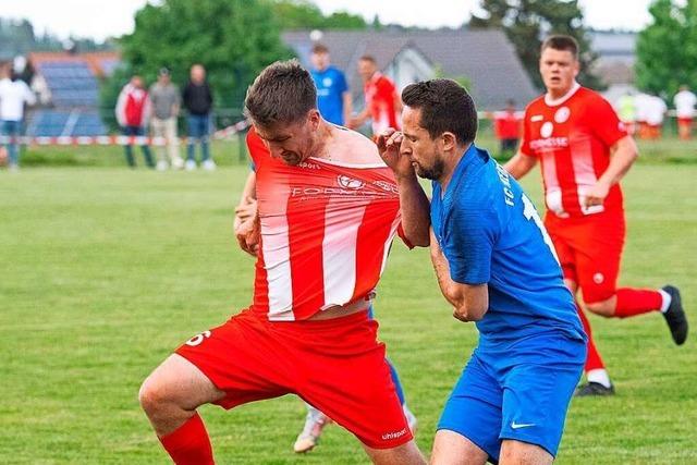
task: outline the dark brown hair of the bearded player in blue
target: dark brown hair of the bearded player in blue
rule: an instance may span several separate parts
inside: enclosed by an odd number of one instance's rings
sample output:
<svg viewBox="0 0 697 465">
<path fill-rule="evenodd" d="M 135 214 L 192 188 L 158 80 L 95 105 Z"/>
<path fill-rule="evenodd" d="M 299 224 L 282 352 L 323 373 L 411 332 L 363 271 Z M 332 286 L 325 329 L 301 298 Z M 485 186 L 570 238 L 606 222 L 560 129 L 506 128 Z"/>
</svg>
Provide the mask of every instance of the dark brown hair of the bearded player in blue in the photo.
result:
<svg viewBox="0 0 697 465">
<path fill-rule="evenodd" d="M 460 144 L 468 144 L 477 135 L 475 102 L 460 84 L 452 79 L 431 79 L 409 84 L 402 93 L 407 107 L 421 110 L 419 125 L 431 138 L 451 132 Z"/>
</svg>

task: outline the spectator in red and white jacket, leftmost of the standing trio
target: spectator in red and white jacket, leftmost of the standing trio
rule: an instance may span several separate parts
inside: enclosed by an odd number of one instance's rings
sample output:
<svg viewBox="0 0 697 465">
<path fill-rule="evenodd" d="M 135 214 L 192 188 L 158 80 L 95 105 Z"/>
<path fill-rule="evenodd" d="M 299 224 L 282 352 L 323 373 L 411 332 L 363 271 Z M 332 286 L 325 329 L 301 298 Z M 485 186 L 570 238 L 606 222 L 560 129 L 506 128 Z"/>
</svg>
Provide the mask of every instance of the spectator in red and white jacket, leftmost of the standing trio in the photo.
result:
<svg viewBox="0 0 697 465">
<path fill-rule="evenodd" d="M 117 121 L 125 136 L 145 136 L 147 118 L 150 114 L 149 107 L 150 99 L 147 90 L 145 90 L 143 78 L 134 75 L 131 77 L 129 84 L 123 86 L 117 100 Z M 133 158 L 133 145 L 131 140 L 123 147 L 129 167 L 135 168 L 135 158 Z M 140 144 L 140 149 L 143 150 L 143 157 L 147 166 L 155 168 L 152 156 L 150 155 L 150 147 L 148 147 L 146 142 Z"/>
</svg>

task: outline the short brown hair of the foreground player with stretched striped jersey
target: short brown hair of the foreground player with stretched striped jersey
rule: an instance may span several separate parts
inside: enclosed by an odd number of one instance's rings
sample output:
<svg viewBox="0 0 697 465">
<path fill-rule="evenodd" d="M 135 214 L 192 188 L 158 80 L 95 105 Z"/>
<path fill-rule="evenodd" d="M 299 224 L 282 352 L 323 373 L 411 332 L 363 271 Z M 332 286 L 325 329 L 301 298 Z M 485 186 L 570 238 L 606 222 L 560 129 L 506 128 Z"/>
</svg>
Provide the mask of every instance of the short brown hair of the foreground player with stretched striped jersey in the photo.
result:
<svg viewBox="0 0 697 465">
<path fill-rule="evenodd" d="M 247 89 L 245 113 L 261 126 L 292 124 L 317 108 L 313 77 L 297 60 L 268 65 Z"/>
</svg>

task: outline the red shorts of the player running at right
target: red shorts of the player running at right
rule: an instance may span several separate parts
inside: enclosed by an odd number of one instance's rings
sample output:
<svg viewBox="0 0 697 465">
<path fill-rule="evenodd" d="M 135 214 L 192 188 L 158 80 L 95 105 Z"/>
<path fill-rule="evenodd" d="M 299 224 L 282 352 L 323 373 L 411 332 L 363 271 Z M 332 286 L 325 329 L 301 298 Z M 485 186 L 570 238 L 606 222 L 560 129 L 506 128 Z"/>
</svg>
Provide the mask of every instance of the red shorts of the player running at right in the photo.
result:
<svg viewBox="0 0 697 465">
<path fill-rule="evenodd" d="M 586 304 L 607 301 L 616 291 L 624 247 L 624 212 L 559 218 L 548 213 L 549 232 L 564 278 L 580 287 Z"/>
</svg>

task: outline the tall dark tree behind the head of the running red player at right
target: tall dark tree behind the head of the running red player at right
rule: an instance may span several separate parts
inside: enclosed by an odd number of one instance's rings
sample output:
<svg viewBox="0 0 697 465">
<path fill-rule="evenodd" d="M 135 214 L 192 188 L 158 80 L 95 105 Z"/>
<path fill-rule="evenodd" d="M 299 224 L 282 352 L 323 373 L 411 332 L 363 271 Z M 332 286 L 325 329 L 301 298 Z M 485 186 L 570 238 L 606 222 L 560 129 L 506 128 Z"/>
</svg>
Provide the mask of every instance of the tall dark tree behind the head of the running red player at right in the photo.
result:
<svg viewBox="0 0 697 465">
<path fill-rule="evenodd" d="M 540 46 L 550 34 L 575 37 L 582 52 L 578 81 L 591 88 L 603 87 L 600 79 L 590 72 L 597 57 L 590 50 L 577 0 L 482 0 L 480 7 L 486 14 L 473 15 L 469 27 L 503 29 L 538 88 L 543 87 L 538 64 Z"/>
</svg>

